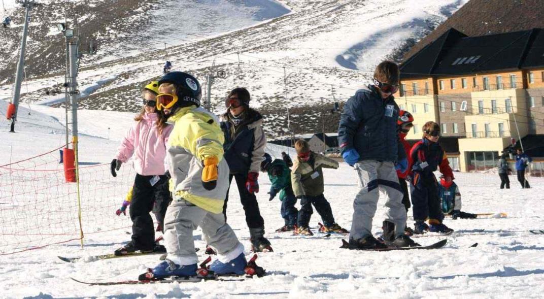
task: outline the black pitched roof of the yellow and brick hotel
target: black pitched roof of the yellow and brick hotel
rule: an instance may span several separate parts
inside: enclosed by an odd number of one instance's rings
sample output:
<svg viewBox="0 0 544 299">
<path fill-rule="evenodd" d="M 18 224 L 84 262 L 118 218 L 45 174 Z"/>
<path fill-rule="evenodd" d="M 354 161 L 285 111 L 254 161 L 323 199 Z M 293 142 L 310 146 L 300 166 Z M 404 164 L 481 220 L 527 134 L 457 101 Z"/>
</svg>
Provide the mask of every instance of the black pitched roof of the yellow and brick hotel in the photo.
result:
<svg viewBox="0 0 544 299">
<path fill-rule="evenodd" d="M 465 75 L 539 66 L 544 64 L 544 57 L 539 56 L 544 44 L 542 31 L 468 37 L 452 28 L 407 59 L 400 66 L 401 77 Z"/>
</svg>

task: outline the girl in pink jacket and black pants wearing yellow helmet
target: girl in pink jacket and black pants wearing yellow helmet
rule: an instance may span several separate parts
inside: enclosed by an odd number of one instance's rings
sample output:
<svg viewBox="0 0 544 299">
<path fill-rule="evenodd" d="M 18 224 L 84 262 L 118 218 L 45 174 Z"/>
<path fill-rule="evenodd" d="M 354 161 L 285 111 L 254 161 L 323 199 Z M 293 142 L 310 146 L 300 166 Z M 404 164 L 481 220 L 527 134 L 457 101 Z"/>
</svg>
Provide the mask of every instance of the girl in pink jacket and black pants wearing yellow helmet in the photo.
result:
<svg viewBox="0 0 544 299">
<path fill-rule="evenodd" d="M 153 219 L 149 212 L 153 204 L 157 205 L 159 215 L 166 213 L 170 203 L 168 176 L 164 167 L 166 142 L 172 126 L 166 124 L 166 117 L 156 111 L 158 82 L 147 84 L 143 91 L 144 107 L 134 120 L 136 123 L 123 138 L 115 158 L 112 160 L 112 175 L 116 176 L 122 163 L 133 158 L 136 178 L 132 187 L 132 202 L 129 215 L 132 220 L 132 241 L 117 249 L 115 255 L 124 255 L 135 251 L 164 252 L 163 246 L 155 244 Z M 123 207 L 121 207 L 123 209 Z M 121 210 L 120 209 L 120 210 Z M 126 209 L 126 206 L 125 206 Z M 160 219 L 157 219 L 160 221 Z"/>
</svg>

